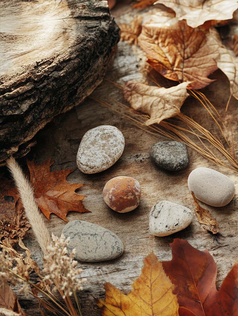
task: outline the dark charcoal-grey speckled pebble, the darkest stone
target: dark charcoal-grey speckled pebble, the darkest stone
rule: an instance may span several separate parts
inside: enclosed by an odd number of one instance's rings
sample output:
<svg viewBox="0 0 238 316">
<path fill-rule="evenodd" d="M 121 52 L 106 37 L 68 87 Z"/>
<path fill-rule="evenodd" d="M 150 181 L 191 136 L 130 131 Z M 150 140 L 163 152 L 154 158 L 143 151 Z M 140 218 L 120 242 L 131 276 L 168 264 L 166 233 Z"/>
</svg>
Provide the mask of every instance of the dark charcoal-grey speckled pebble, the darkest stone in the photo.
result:
<svg viewBox="0 0 238 316">
<path fill-rule="evenodd" d="M 189 163 L 185 144 L 176 141 L 155 143 L 150 149 L 150 158 L 158 167 L 168 171 L 184 170 Z"/>
</svg>

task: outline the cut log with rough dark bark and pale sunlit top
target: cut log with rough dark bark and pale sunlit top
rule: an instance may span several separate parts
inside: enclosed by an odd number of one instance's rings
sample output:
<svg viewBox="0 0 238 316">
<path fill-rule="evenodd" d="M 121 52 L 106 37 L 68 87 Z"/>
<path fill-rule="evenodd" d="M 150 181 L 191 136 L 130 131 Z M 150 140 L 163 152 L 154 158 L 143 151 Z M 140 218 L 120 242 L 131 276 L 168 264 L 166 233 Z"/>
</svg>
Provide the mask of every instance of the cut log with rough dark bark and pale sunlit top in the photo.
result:
<svg viewBox="0 0 238 316">
<path fill-rule="evenodd" d="M 0 0 L 0 165 L 102 81 L 119 27 L 101 0 Z"/>
</svg>

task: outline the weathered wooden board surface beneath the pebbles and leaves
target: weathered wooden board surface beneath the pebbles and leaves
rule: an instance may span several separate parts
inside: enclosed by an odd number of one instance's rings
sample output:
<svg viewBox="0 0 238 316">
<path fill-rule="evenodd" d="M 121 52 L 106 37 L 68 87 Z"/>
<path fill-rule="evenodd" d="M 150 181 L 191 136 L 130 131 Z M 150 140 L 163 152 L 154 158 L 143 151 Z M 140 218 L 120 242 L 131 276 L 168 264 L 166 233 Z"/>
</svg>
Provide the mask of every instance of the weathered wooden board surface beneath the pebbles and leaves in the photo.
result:
<svg viewBox="0 0 238 316">
<path fill-rule="evenodd" d="M 126 5 L 117 5 L 114 14 L 116 21 L 130 19 L 131 14 L 119 18 L 121 12 L 129 12 Z M 135 14 L 135 13 L 134 13 Z M 112 69 L 107 73 L 107 79 L 124 84 L 130 79 L 143 80 L 143 75 L 138 70 L 138 55 L 135 57 L 133 48 L 127 43 L 119 43 L 118 53 Z M 164 82 L 160 77 L 161 82 Z M 226 102 L 229 98 L 229 82 L 220 71 L 212 78 L 217 78 L 210 86 L 203 89 L 204 94 L 216 105 L 220 113 L 224 113 Z M 109 101 L 115 99 L 123 101 L 122 91 L 108 82 L 103 82 L 94 92 L 95 97 Z M 229 104 L 229 128 L 233 131 L 234 143 L 237 144 L 237 102 L 232 99 Z M 182 107 L 182 112 L 191 115 L 193 119 L 211 129 L 213 133 L 217 128 L 212 125 L 208 113 L 201 104 L 189 97 Z M 131 290 L 131 283 L 139 276 L 143 265 L 143 258 L 154 251 L 160 260 L 171 259 L 169 243 L 174 238 L 182 238 L 199 250 L 208 249 L 217 263 L 217 286 L 219 287 L 232 265 L 237 262 L 237 176 L 227 169 L 218 167 L 188 148 L 190 163 L 186 170 L 177 173 L 168 173 L 157 168 L 149 158 L 150 147 L 162 137 L 150 135 L 131 124 L 125 122 L 117 113 L 109 111 L 97 102 L 87 99 L 82 105 L 70 112 L 56 117 L 42 131 L 37 134 L 37 145 L 32 149 L 36 155 L 36 162 L 42 163 L 52 157 L 55 164 L 52 170 L 76 168 L 76 153 L 82 136 L 88 129 L 99 125 L 114 125 L 125 136 L 125 150 L 119 161 L 108 170 L 92 175 L 81 173 L 78 169 L 68 178 L 70 182 L 84 183 L 80 192 L 86 194 L 84 205 L 92 213 L 78 214 L 70 212 L 68 220 L 81 219 L 111 229 L 122 239 L 125 252 L 115 260 L 104 263 L 83 263 L 83 276 L 88 278 L 85 290 L 81 292 L 80 303 L 84 316 L 99 316 L 100 312 L 95 304 L 94 297 L 105 298 L 103 284 L 110 282 L 124 293 Z M 237 146 L 236 146 L 237 150 Z M 148 231 L 149 212 L 151 207 L 160 200 L 169 200 L 194 209 L 194 202 L 187 187 L 189 173 L 197 167 L 210 167 L 225 173 L 236 186 L 236 195 L 229 205 L 221 208 L 206 206 L 219 222 L 220 234 L 212 236 L 198 223 L 195 212 L 193 221 L 183 231 L 167 236 L 155 237 Z M 118 214 L 110 210 L 102 198 L 105 183 L 112 177 L 129 175 L 136 178 L 142 187 L 142 199 L 139 207 L 125 214 Z M 65 222 L 57 216 L 51 215 L 48 222 L 49 229 L 59 235 Z M 32 250 L 34 259 L 42 266 L 40 248 L 31 230 L 27 232 L 24 242 Z M 30 315 L 40 315 L 38 304 L 29 298 L 26 300 L 21 295 L 20 304 Z"/>
</svg>

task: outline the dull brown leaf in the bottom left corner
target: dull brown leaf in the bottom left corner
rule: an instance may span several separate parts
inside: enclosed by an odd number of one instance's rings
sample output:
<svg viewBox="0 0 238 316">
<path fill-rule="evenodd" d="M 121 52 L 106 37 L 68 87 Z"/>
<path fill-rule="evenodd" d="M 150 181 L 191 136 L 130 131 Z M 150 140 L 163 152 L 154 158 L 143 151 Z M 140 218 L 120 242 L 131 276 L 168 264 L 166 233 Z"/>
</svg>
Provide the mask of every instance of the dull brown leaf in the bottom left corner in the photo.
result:
<svg viewBox="0 0 238 316">
<path fill-rule="evenodd" d="M 7 283 L 4 283 L 3 287 L 0 288 L 0 307 L 9 309 L 10 311 L 18 313 L 22 316 L 27 316 L 27 314 L 21 309 L 17 295 Z"/>
</svg>

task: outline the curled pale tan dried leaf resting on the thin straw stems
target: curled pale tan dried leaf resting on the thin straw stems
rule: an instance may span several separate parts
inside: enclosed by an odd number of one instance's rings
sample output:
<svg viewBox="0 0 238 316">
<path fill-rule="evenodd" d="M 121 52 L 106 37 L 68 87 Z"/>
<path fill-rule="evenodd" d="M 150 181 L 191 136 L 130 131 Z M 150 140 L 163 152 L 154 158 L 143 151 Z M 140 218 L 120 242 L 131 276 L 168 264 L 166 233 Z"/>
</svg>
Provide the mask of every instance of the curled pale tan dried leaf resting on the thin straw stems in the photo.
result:
<svg viewBox="0 0 238 316">
<path fill-rule="evenodd" d="M 180 107 L 188 97 L 187 85 L 183 82 L 171 88 L 158 88 L 134 81 L 124 87 L 124 97 L 134 110 L 148 113 L 150 119 L 144 124 L 160 123 L 180 113 Z"/>
</svg>

